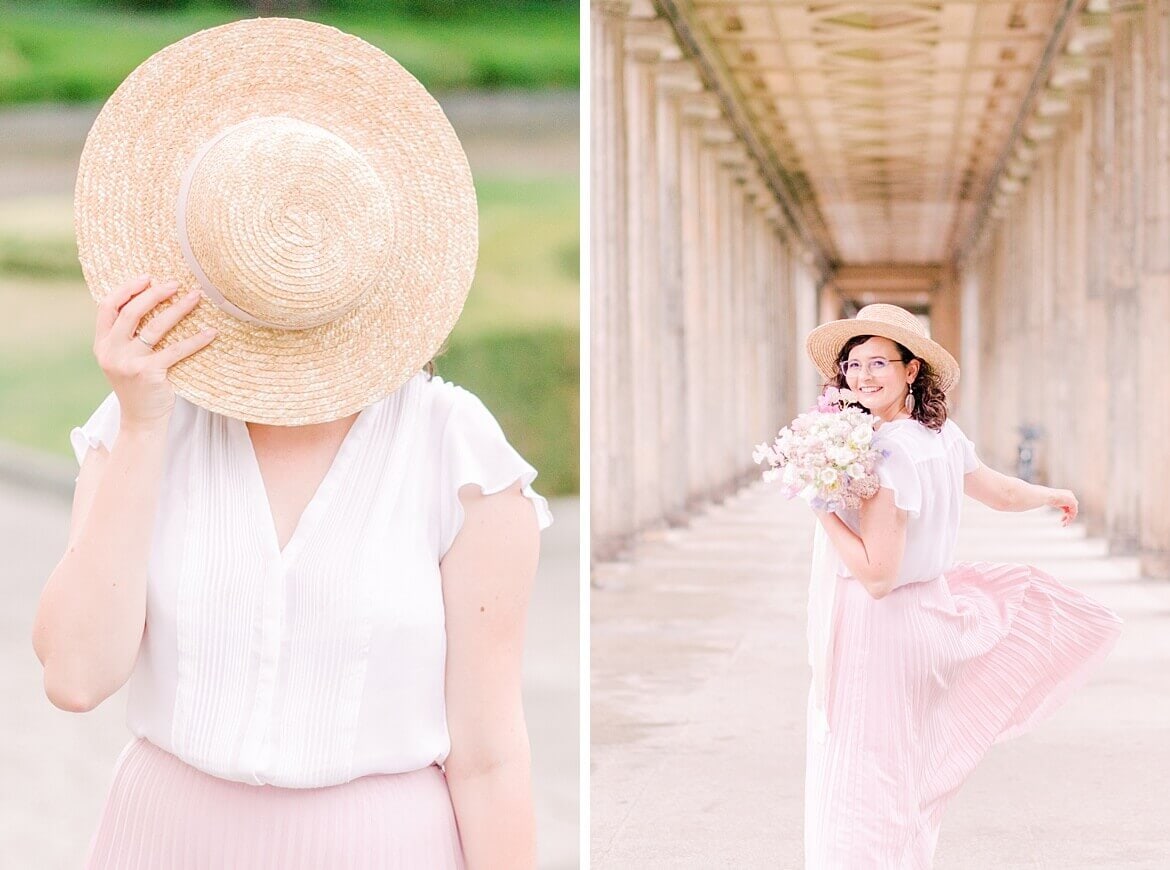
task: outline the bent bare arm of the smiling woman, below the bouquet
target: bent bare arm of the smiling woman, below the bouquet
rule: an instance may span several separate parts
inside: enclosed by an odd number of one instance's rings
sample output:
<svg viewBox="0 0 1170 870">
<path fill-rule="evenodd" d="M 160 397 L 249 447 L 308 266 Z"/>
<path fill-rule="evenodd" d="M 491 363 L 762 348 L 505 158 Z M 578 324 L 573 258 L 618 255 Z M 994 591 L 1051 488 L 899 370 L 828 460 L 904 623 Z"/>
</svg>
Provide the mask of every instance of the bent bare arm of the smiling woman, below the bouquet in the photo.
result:
<svg viewBox="0 0 1170 870">
<path fill-rule="evenodd" d="M 907 513 L 894 504 L 894 491 L 882 486 L 861 503 L 860 537 L 835 513 L 817 511 L 817 519 L 849 573 L 875 599 L 885 598 L 894 588 L 906 553 Z"/>
</svg>

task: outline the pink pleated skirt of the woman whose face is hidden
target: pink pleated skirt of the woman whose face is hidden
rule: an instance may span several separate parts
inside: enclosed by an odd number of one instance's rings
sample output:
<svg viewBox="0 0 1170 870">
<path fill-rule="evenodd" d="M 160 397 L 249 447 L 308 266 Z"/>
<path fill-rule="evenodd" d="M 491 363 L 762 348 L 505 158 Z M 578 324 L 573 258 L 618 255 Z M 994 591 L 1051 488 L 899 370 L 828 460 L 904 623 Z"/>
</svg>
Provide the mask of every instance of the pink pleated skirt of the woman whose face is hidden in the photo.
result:
<svg viewBox="0 0 1170 870">
<path fill-rule="evenodd" d="M 91 870 L 462 870 L 439 767 L 326 788 L 212 776 L 145 739 L 118 758 Z"/>
</svg>

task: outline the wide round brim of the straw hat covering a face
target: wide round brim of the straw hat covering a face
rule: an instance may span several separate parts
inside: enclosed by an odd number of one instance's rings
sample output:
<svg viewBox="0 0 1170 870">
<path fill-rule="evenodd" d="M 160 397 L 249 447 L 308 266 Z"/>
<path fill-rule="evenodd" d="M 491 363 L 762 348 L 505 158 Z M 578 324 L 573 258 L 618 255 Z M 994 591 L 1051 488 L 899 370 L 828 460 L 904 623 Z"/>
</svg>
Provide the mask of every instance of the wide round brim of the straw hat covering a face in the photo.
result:
<svg viewBox="0 0 1170 870">
<path fill-rule="evenodd" d="M 159 344 L 212 326 L 171 367 L 209 410 L 284 426 L 336 420 L 385 398 L 442 346 L 475 272 L 479 223 L 463 149 L 438 102 L 393 58 L 336 28 L 249 19 L 195 33 L 143 62 L 98 115 L 81 157 L 75 229 L 96 301 L 135 275 L 199 285 L 176 202 L 184 171 L 220 131 L 281 116 L 355 149 L 387 192 L 391 256 L 336 319 L 284 330 L 207 298 Z"/>
</svg>

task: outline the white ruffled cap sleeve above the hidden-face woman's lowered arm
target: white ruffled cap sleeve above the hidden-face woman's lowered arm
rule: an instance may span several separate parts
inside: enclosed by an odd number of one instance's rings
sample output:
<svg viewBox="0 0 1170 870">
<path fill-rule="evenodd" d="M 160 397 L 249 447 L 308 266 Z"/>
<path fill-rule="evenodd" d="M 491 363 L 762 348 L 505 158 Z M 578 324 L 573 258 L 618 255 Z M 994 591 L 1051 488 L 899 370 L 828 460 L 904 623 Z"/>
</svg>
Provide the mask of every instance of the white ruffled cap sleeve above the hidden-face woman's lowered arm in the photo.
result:
<svg viewBox="0 0 1170 870">
<path fill-rule="evenodd" d="M 532 489 L 537 471 L 508 443 L 491 412 L 474 393 L 455 387 L 456 401 L 442 436 L 441 520 L 439 554 L 442 558 L 463 526 L 461 486 L 474 483 L 484 495 L 501 492 L 516 481 L 536 508 L 541 530 L 552 524 L 548 500 Z"/>
</svg>

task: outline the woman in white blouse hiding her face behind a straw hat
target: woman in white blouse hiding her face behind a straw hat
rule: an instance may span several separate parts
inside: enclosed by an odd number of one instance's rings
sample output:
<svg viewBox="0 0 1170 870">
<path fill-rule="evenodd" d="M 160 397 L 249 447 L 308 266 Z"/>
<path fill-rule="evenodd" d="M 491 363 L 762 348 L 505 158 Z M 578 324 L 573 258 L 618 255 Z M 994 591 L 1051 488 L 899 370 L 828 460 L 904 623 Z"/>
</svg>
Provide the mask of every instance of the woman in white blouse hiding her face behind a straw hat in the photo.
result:
<svg viewBox="0 0 1170 870">
<path fill-rule="evenodd" d="M 438 103 L 333 28 L 205 30 L 103 108 L 76 223 L 113 391 L 33 640 L 62 709 L 130 684 L 88 866 L 534 866 L 551 517 L 431 374 L 477 240 Z"/>
</svg>

